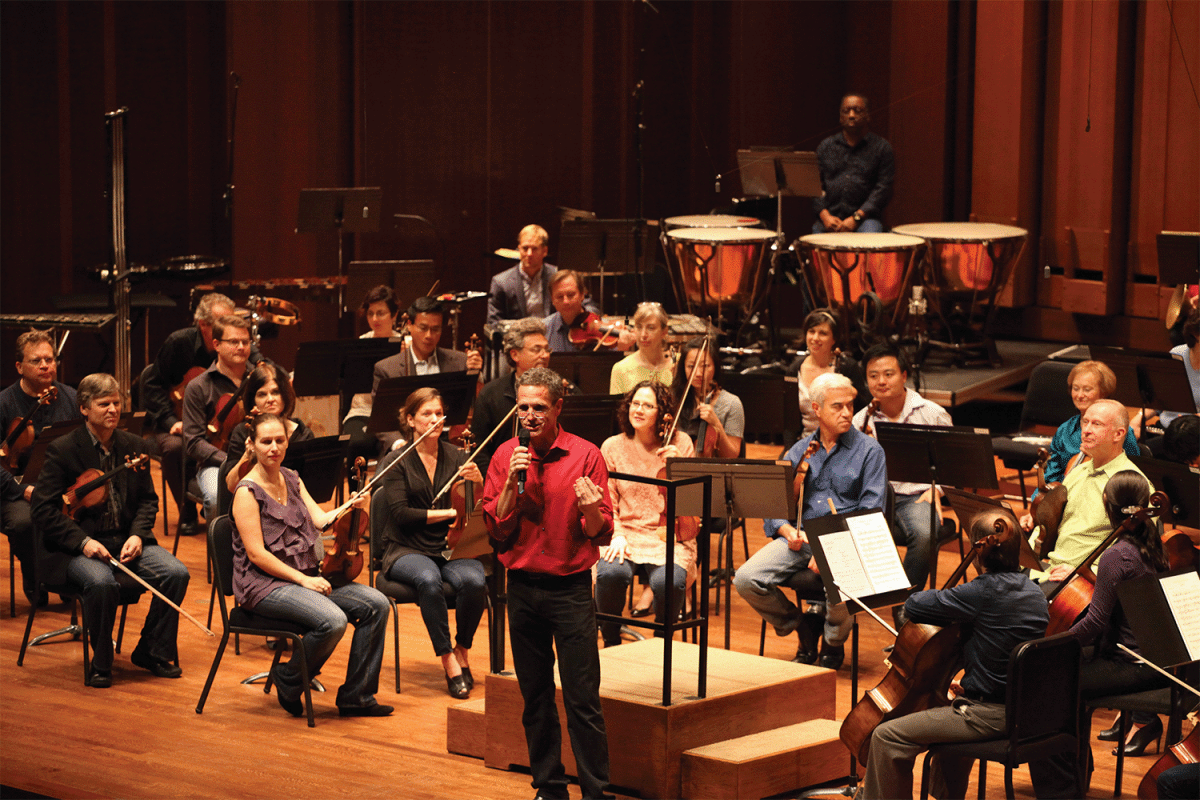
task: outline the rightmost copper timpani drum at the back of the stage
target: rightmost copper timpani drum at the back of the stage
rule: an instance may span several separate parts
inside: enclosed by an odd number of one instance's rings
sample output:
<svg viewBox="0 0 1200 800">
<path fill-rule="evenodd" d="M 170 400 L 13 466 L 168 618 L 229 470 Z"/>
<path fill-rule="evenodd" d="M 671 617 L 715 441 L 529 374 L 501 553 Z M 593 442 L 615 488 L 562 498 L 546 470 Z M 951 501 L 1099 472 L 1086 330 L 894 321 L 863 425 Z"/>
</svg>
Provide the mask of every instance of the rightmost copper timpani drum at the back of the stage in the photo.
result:
<svg viewBox="0 0 1200 800">
<path fill-rule="evenodd" d="M 896 234 L 929 242 L 922 275 L 930 314 L 952 344 L 985 341 L 995 300 L 1025 249 L 1028 231 L 991 222 L 923 222 Z M 907 287 L 906 287 L 907 288 Z"/>
</svg>

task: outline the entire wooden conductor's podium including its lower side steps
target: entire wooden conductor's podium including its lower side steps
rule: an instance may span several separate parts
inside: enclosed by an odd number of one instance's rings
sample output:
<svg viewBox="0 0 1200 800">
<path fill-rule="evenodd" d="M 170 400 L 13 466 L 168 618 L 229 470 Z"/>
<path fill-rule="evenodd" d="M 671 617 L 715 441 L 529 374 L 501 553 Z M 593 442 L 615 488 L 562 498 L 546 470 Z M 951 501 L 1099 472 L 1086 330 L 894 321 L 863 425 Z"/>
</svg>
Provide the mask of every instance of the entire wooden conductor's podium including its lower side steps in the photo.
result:
<svg viewBox="0 0 1200 800">
<path fill-rule="evenodd" d="M 643 798 L 762 798 L 847 774 L 833 670 L 709 649 L 708 696 L 700 699 L 700 648 L 674 642 L 672 704 L 664 706 L 662 644 L 650 638 L 600 651 L 613 787 Z M 563 763 L 575 775 L 562 690 L 557 699 Z M 446 750 L 494 769 L 527 768 L 522 708 L 514 673 L 487 675 L 486 699 L 448 709 Z"/>
</svg>

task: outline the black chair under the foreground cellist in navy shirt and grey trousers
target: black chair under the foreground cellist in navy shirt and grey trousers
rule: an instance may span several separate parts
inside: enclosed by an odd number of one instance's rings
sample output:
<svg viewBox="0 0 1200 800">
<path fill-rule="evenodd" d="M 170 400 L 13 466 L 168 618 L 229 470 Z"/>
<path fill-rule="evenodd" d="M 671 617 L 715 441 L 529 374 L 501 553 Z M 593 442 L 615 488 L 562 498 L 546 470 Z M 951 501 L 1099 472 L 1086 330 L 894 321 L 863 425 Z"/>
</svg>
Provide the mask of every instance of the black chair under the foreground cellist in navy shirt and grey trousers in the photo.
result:
<svg viewBox="0 0 1200 800">
<path fill-rule="evenodd" d="M 920 800 L 929 798 L 930 759 L 953 756 L 979 760 L 979 800 L 986 796 L 986 762 L 1004 765 L 1004 796 L 1013 799 L 1013 769 L 1020 764 L 1072 753 L 1079 786 L 1085 784 L 1080 753 L 1079 670 L 1082 648 L 1068 633 L 1022 642 L 1008 658 L 1006 712 L 1008 735 L 985 741 L 932 745 L 925 753 Z"/>
</svg>

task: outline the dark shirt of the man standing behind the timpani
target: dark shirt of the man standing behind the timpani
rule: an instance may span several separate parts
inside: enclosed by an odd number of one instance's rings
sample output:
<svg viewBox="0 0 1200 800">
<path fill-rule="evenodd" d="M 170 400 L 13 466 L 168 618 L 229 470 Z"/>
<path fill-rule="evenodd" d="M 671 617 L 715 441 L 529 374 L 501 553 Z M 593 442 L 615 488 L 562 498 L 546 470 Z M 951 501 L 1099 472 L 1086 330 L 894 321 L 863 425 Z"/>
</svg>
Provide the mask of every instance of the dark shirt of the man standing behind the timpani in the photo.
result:
<svg viewBox="0 0 1200 800">
<path fill-rule="evenodd" d="M 892 199 L 895 157 L 883 137 L 868 132 L 851 148 L 838 132 L 817 145 L 817 168 L 823 194 L 812 199 L 812 210 L 818 216 L 827 210 L 845 219 L 862 209 L 868 217 L 878 218 Z"/>
</svg>

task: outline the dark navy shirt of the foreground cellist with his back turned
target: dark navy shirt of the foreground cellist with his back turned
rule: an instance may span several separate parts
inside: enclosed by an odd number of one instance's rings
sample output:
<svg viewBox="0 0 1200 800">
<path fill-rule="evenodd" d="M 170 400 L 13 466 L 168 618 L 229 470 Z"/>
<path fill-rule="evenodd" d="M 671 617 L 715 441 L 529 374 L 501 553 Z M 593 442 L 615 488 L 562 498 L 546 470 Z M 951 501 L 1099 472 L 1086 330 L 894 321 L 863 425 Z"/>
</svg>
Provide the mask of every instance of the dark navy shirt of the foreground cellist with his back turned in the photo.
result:
<svg viewBox="0 0 1200 800">
<path fill-rule="evenodd" d="M 918 591 L 904 609 L 914 622 L 971 625 L 962 688 L 985 697 L 1004 696 L 1013 648 L 1044 637 L 1050 622 L 1045 594 L 1020 572 L 985 572 L 953 589 Z"/>
</svg>

